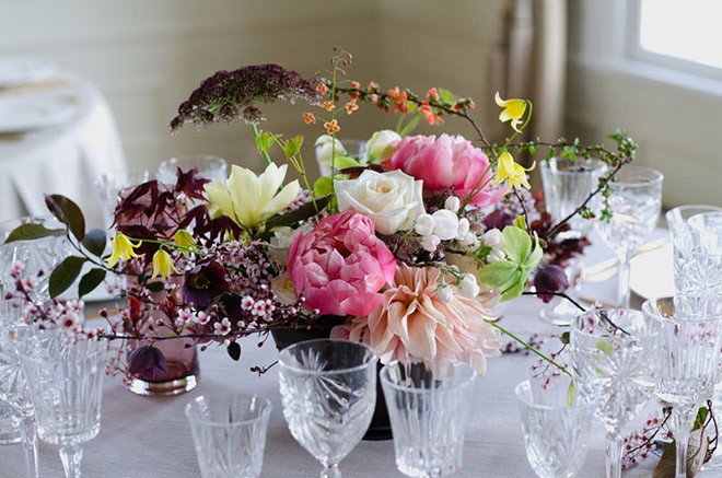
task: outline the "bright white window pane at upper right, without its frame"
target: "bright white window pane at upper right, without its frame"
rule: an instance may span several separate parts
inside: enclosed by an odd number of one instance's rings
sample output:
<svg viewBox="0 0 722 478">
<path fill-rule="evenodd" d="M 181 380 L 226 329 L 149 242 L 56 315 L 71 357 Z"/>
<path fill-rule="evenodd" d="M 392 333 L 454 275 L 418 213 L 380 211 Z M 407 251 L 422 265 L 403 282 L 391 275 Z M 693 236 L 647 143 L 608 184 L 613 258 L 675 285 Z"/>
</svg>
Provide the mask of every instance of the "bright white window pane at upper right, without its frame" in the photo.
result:
<svg viewBox="0 0 722 478">
<path fill-rule="evenodd" d="M 722 1 L 642 0 L 640 44 L 660 55 L 722 68 Z"/>
</svg>

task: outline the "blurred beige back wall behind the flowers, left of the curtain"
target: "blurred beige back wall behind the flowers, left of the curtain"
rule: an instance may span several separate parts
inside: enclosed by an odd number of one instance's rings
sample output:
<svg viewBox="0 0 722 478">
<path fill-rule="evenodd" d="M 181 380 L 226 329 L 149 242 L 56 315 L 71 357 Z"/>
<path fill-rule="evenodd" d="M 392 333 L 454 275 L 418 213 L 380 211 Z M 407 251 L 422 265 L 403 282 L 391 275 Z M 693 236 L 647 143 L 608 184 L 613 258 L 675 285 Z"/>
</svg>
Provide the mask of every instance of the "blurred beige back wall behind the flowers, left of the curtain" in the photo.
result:
<svg viewBox="0 0 722 478">
<path fill-rule="evenodd" d="M 132 168 L 193 152 L 255 166 L 260 160 L 241 121 L 167 133 L 177 105 L 206 77 L 260 62 L 312 75 L 342 45 L 354 55 L 350 78 L 420 94 L 445 86 L 475 97 L 482 109 L 490 101 L 488 53 L 502 3 L 458 0 L 450 11 L 430 0 L 4 0 L 0 55 L 48 59 L 94 81 L 115 113 Z M 322 130 L 303 125 L 300 112 L 273 106 L 263 127 L 303 133 L 311 143 Z M 343 124 L 341 136 L 368 137 L 394 121 L 361 112 Z M 451 126 L 471 133 L 465 125 Z"/>
</svg>

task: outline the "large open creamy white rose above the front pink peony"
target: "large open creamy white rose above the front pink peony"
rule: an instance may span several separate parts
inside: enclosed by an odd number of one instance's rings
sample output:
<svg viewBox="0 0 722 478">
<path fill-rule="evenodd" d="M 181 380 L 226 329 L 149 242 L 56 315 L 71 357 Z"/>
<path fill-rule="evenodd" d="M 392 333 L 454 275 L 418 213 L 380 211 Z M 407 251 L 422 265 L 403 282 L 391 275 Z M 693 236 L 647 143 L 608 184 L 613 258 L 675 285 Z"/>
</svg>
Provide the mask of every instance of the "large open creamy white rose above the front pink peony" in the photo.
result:
<svg viewBox="0 0 722 478">
<path fill-rule="evenodd" d="M 411 229 L 423 213 L 422 182 L 401 171 L 365 170 L 358 178 L 337 180 L 335 185 L 338 209 L 353 208 L 371 219 L 381 234 Z"/>
</svg>

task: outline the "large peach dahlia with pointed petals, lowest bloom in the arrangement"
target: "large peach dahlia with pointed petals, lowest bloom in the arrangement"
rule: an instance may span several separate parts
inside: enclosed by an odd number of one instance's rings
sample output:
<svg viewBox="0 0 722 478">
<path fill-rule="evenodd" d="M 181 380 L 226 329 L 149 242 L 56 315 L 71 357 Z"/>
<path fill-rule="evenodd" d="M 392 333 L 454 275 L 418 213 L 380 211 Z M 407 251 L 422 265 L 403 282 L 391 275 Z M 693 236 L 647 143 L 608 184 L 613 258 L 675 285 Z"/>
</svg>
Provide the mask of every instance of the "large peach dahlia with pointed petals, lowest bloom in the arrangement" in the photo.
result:
<svg viewBox="0 0 722 478">
<path fill-rule="evenodd" d="M 368 317 L 356 317 L 335 327 L 331 337 L 362 341 L 373 347 L 383 363 L 393 360 L 462 359 L 482 375 L 487 357 L 499 355 L 501 334 L 485 319 L 496 296 L 466 299 L 454 293 L 449 302 L 436 295 L 441 271 L 401 264 L 381 306 Z"/>
</svg>

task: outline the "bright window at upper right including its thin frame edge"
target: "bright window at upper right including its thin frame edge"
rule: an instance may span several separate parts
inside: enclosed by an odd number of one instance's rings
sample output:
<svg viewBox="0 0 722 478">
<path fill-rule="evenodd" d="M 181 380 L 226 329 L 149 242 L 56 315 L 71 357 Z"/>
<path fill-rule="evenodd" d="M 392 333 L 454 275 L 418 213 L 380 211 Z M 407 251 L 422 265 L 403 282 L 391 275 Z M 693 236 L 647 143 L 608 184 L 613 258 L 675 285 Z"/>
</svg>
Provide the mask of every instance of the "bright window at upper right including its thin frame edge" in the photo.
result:
<svg viewBox="0 0 722 478">
<path fill-rule="evenodd" d="M 632 26 L 632 57 L 692 73 L 722 74 L 719 25 L 722 2 L 639 0 L 630 3 L 637 10 L 630 18 L 637 19 L 633 26 L 638 27 L 634 32 Z"/>
</svg>

